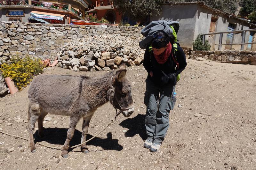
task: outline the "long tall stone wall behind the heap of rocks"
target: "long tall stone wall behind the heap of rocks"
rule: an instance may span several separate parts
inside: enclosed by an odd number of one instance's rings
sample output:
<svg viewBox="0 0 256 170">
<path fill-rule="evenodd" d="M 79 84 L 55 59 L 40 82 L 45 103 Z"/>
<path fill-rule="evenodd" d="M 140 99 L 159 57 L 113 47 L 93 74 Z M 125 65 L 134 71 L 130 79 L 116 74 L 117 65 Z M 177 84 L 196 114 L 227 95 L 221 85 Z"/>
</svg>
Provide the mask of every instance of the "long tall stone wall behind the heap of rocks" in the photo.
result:
<svg viewBox="0 0 256 170">
<path fill-rule="evenodd" d="M 79 38 L 95 35 L 119 34 L 127 39 L 140 41 L 141 27 L 134 26 L 79 26 L 60 24 L 35 24 L 21 22 L 0 22 L 0 64 L 10 55 L 33 55 L 42 59 L 54 59 L 60 48 Z"/>
</svg>

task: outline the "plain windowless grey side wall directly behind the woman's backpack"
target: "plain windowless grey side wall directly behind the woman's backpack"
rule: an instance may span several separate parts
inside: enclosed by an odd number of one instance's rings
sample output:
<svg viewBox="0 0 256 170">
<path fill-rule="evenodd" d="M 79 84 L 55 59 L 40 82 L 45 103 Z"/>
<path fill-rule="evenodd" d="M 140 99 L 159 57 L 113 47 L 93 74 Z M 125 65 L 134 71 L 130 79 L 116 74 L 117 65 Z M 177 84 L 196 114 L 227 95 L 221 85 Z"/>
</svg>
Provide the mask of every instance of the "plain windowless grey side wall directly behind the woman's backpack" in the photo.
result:
<svg viewBox="0 0 256 170">
<path fill-rule="evenodd" d="M 150 21 L 172 20 L 180 22 L 177 38 L 181 47 L 193 48 L 195 35 L 197 5 L 162 5 L 163 12 L 159 16 L 151 16 Z M 186 11 L 186 12 L 184 12 Z"/>
</svg>

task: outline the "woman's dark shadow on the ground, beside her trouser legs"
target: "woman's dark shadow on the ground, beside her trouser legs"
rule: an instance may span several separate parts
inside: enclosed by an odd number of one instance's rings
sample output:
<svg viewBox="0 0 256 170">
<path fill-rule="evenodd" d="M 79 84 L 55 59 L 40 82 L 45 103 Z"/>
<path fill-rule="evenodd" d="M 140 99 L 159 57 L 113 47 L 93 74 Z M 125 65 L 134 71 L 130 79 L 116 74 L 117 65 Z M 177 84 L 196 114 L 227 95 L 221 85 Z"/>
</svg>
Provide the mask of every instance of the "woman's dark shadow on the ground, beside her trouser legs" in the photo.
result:
<svg viewBox="0 0 256 170">
<path fill-rule="evenodd" d="M 147 139 L 146 136 L 146 127 L 145 127 L 145 116 L 138 114 L 133 118 L 125 119 L 123 122 L 119 123 L 123 128 L 128 128 L 129 130 L 125 132 L 125 137 L 133 137 L 136 134 L 139 134 L 143 140 Z"/>
</svg>

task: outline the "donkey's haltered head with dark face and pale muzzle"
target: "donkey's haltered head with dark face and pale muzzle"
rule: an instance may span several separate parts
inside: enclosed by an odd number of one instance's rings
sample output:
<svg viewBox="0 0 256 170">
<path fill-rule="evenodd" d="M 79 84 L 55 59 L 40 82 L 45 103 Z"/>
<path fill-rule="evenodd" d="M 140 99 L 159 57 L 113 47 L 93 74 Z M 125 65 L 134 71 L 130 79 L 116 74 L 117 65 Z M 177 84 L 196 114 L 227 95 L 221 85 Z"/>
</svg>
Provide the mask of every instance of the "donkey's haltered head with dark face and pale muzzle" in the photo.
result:
<svg viewBox="0 0 256 170">
<path fill-rule="evenodd" d="M 129 117 L 134 112 L 134 107 L 131 83 L 125 75 L 126 67 L 122 64 L 111 78 L 112 90 L 109 94 L 109 101 L 115 108 L 122 110 L 125 117 Z"/>
</svg>

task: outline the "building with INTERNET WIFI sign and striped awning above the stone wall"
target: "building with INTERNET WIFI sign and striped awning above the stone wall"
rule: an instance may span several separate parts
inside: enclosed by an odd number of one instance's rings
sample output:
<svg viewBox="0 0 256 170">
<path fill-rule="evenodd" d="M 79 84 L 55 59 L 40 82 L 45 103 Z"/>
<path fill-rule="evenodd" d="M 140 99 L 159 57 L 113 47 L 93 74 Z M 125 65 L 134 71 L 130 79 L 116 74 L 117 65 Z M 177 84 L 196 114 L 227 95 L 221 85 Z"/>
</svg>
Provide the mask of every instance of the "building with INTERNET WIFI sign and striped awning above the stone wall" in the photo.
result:
<svg viewBox="0 0 256 170">
<path fill-rule="evenodd" d="M 90 0 L 0 1 L 0 21 L 69 24 L 70 19 L 83 20 Z"/>
</svg>

